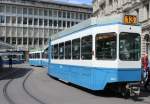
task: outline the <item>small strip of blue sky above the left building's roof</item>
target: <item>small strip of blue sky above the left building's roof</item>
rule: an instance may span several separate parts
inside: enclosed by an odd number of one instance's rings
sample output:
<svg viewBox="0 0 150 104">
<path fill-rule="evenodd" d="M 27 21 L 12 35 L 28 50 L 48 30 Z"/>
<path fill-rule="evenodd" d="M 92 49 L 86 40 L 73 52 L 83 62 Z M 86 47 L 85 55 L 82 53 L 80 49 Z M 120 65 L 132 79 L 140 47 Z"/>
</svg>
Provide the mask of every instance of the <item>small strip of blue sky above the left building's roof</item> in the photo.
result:
<svg viewBox="0 0 150 104">
<path fill-rule="evenodd" d="M 92 4 L 92 0 L 56 0 L 75 4 Z"/>
</svg>

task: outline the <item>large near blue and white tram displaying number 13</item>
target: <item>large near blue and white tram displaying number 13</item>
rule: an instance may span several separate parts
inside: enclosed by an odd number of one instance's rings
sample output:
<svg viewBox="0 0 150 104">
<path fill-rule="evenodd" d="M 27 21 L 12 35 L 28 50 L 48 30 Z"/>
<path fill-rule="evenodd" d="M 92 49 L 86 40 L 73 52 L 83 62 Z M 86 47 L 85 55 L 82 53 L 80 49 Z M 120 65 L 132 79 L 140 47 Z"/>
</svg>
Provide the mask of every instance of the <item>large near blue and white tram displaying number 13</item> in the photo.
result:
<svg viewBox="0 0 150 104">
<path fill-rule="evenodd" d="M 84 21 L 50 41 L 48 74 L 91 90 L 124 91 L 141 80 L 140 34 L 123 16 Z"/>
</svg>

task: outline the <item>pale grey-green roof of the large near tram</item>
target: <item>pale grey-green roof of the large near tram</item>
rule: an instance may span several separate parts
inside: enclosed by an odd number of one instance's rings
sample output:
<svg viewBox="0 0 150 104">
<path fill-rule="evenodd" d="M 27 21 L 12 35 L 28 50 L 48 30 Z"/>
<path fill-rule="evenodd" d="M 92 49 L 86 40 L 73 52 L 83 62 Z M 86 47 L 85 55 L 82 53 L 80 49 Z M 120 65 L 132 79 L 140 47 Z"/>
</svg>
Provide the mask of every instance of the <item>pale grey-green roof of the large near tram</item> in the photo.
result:
<svg viewBox="0 0 150 104">
<path fill-rule="evenodd" d="M 124 15 L 119 14 L 119 15 L 114 15 L 114 16 L 106 16 L 103 18 L 95 18 L 92 17 L 90 19 L 87 19 L 77 25 L 74 25 L 70 28 L 67 28 L 61 32 L 58 32 L 56 34 L 53 34 L 52 40 L 56 40 L 58 38 L 61 38 L 63 36 L 67 36 L 71 33 L 77 32 L 79 30 L 95 26 L 95 25 L 111 25 L 111 24 L 124 24 Z"/>
</svg>

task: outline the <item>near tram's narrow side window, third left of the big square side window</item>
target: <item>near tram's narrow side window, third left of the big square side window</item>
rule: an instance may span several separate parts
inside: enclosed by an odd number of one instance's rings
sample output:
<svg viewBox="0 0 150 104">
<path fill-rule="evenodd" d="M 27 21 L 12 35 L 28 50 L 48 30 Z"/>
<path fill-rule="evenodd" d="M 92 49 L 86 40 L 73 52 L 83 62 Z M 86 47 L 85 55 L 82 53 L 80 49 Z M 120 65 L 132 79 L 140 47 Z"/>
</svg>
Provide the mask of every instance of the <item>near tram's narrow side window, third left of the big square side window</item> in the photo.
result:
<svg viewBox="0 0 150 104">
<path fill-rule="evenodd" d="M 65 59 L 71 59 L 71 41 L 65 42 Z"/>
</svg>

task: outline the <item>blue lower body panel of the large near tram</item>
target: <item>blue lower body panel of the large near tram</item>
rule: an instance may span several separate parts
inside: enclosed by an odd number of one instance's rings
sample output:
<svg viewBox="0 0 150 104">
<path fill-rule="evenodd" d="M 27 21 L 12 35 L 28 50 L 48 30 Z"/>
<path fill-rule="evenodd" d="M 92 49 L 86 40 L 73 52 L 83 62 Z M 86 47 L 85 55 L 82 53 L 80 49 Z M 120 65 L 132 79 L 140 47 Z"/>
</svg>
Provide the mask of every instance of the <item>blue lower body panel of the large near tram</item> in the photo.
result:
<svg viewBox="0 0 150 104">
<path fill-rule="evenodd" d="M 107 83 L 141 80 L 140 68 L 111 69 L 49 64 L 48 74 L 91 90 L 103 90 Z"/>
</svg>

